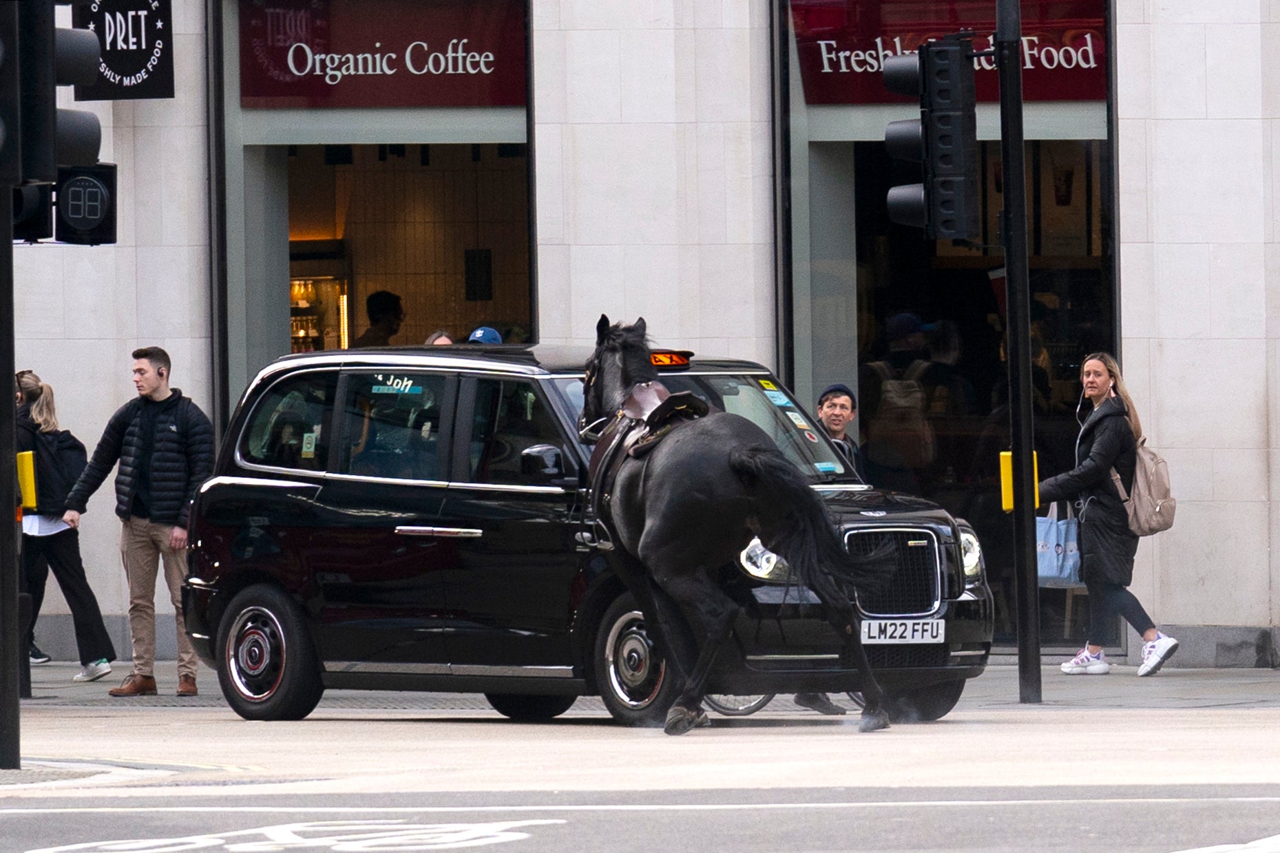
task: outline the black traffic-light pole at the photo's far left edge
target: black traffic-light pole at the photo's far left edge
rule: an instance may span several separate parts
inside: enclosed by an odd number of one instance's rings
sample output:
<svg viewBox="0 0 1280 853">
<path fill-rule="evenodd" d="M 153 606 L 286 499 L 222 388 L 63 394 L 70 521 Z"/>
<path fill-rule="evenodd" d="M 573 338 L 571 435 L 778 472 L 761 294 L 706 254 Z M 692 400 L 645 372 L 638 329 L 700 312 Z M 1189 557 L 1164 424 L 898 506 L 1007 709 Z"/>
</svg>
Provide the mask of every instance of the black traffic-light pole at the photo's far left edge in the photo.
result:
<svg viewBox="0 0 1280 853">
<path fill-rule="evenodd" d="M 0 377 L 14 374 L 13 188 L 0 184 Z M 0 405 L 0 770 L 20 770 L 18 744 L 18 461 L 13 396 Z M 27 649 L 20 649 L 22 654 Z"/>
</svg>

